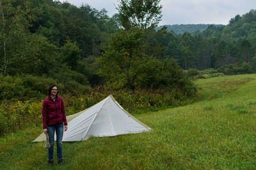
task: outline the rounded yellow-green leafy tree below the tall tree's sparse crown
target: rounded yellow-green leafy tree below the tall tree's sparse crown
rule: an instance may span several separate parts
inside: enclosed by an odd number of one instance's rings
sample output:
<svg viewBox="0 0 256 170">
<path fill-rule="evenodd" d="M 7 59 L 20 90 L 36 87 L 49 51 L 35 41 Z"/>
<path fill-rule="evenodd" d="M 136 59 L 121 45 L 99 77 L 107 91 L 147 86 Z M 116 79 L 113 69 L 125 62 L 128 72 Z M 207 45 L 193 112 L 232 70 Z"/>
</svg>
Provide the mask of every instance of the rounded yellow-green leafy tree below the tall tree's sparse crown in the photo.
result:
<svg viewBox="0 0 256 170">
<path fill-rule="evenodd" d="M 120 30 L 113 34 L 100 57 L 99 75 L 108 78 L 116 89 L 134 89 L 138 65 L 145 60 L 145 32 L 140 29 Z"/>
</svg>

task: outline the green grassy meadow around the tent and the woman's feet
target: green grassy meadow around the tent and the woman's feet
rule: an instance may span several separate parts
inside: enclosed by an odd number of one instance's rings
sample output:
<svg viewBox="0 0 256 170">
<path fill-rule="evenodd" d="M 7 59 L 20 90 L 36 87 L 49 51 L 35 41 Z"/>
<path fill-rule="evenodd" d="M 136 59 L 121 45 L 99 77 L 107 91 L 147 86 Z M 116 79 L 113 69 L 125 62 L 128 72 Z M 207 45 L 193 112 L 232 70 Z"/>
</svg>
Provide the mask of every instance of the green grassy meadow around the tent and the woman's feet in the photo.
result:
<svg viewBox="0 0 256 170">
<path fill-rule="evenodd" d="M 151 132 L 63 143 L 61 165 L 31 143 L 40 127 L 0 138 L 0 169 L 256 169 L 256 74 L 196 84 L 203 101 L 134 115 Z"/>
</svg>

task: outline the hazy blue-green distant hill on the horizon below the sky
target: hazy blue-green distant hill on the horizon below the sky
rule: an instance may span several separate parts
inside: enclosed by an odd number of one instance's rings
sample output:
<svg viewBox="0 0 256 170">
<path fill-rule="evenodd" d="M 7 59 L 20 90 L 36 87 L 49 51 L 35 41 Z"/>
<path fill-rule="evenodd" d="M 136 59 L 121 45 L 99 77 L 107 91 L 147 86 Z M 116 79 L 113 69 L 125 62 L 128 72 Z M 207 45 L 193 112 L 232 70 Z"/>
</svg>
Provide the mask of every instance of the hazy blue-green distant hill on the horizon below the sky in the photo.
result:
<svg viewBox="0 0 256 170">
<path fill-rule="evenodd" d="M 207 29 L 209 25 L 221 26 L 220 24 L 180 24 L 180 25 L 161 25 L 157 27 L 157 29 L 161 29 L 166 26 L 168 31 L 173 31 L 176 34 L 183 34 L 184 32 L 196 32 L 196 31 L 204 31 Z"/>
</svg>

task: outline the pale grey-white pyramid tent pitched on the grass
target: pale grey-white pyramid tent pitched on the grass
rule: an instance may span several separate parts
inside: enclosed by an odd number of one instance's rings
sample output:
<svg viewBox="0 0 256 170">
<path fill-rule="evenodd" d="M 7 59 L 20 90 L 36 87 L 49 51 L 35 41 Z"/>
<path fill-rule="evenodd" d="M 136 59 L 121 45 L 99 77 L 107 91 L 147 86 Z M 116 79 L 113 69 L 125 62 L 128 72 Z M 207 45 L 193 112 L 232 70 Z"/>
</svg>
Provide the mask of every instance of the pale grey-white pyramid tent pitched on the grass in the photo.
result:
<svg viewBox="0 0 256 170">
<path fill-rule="evenodd" d="M 68 116 L 67 122 L 68 131 L 63 133 L 62 141 L 84 141 L 90 136 L 117 136 L 151 130 L 125 111 L 111 95 L 87 110 Z M 37 141 L 45 141 L 44 133 L 33 142 Z"/>
</svg>

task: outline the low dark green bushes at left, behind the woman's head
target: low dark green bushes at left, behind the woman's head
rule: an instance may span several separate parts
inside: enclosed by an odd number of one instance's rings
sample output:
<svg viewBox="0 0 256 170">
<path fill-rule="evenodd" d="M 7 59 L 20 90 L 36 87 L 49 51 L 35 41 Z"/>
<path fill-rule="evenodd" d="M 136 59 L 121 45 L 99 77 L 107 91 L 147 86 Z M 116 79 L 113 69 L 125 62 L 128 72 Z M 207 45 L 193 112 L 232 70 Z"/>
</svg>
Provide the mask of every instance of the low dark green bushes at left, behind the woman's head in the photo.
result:
<svg viewBox="0 0 256 170">
<path fill-rule="evenodd" d="M 76 75 L 74 75 L 76 76 Z M 92 88 L 88 85 L 81 85 L 75 80 L 68 79 L 65 84 L 60 81 L 47 78 L 46 76 L 23 75 L 17 76 L 0 76 L 0 103 L 8 101 L 26 101 L 33 97 L 42 99 L 48 93 L 49 86 L 55 84 L 63 94 L 72 94 L 79 96 L 91 92 Z"/>
</svg>

